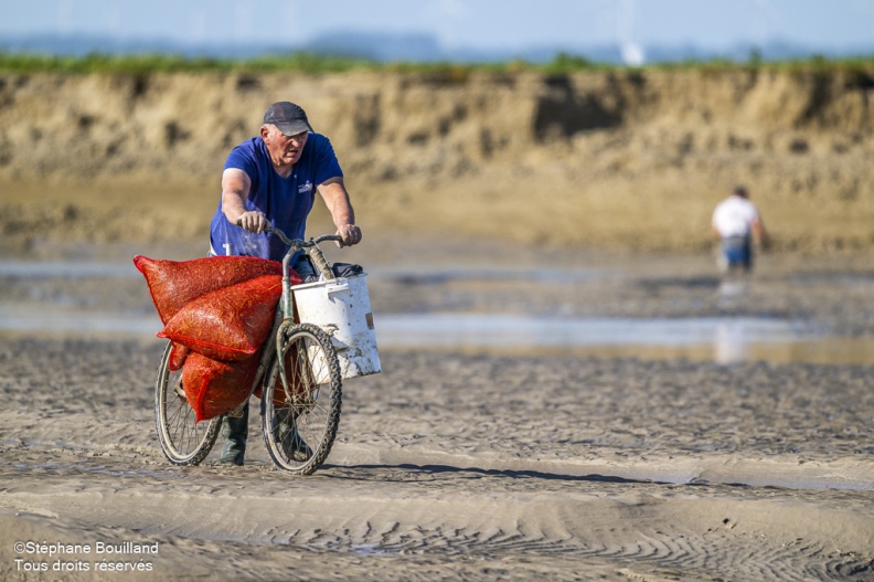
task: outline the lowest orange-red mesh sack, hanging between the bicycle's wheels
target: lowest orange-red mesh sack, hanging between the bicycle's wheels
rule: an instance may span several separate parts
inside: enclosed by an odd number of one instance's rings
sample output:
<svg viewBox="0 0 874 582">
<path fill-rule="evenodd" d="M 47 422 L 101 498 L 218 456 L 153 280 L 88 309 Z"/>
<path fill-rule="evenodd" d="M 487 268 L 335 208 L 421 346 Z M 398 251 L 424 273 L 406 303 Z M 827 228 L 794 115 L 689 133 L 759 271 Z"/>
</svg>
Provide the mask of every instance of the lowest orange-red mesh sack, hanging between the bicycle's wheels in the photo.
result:
<svg viewBox="0 0 874 582">
<path fill-rule="evenodd" d="M 193 351 L 182 367 L 182 387 L 196 422 L 230 412 L 248 398 L 258 371 L 258 355 L 223 362 Z"/>
</svg>

